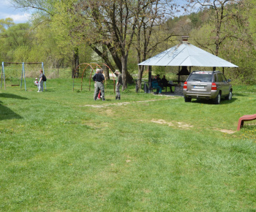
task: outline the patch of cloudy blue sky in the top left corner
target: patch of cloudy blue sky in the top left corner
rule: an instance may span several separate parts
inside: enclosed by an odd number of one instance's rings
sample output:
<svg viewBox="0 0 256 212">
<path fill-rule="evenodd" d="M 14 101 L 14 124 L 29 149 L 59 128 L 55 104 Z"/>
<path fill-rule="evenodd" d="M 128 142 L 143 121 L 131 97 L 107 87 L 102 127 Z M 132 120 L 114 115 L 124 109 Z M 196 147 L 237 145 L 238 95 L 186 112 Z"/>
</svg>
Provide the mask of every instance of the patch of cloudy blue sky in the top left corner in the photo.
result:
<svg viewBox="0 0 256 212">
<path fill-rule="evenodd" d="M 26 23 L 29 17 L 29 12 L 16 10 L 11 6 L 10 1 L 0 0 L 0 19 L 12 18 L 14 23 Z"/>
</svg>

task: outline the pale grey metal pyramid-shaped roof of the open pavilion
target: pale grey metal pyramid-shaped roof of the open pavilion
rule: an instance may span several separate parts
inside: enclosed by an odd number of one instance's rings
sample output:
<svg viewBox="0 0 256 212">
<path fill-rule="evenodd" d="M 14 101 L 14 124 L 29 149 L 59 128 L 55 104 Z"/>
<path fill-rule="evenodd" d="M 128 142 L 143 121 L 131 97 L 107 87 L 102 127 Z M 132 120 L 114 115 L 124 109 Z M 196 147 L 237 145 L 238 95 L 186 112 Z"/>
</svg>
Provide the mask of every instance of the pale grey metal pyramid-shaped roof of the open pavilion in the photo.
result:
<svg viewBox="0 0 256 212">
<path fill-rule="evenodd" d="M 197 48 L 189 42 L 181 42 L 181 44 L 148 58 L 138 65 L 164 67 L 238 67 L 205 50 Z"/>
</svg>

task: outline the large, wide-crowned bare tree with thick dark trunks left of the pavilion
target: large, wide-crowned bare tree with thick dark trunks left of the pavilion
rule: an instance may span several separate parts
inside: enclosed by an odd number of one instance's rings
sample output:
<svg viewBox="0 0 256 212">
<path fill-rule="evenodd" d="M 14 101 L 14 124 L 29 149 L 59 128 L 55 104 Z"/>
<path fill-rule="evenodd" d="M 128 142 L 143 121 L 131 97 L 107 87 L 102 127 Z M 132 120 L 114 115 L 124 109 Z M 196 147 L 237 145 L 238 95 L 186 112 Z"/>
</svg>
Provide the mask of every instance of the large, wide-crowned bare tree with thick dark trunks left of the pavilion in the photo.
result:
<svg viewBox="0 0 256 212">
<path fill-rule="evenodd" d="M 162 14 L 165 13 L 167 5 L 167 2 L 159 0 L 79 1 L 69 10 L 74 17 L 73 36 L 82 39 L 83 42 L 86 41 L 105 62 L 110 64 L 110 68 L 117 67 L 122 72 L 125 89 L 127 83 L 132 81 L 127 63 L 129 50 L 135 42 L 135 33 L 139 35 L 142 27 L 153 29 L 157 20 L 163 19 Z M 144 21 L 146 19 L 147 22 Z M 151 42 L 151 31 L 147 31 L 144 36 L 148 46 Z M 103 53 L 102 46 L 108 49 L 111 58 Z M 143 51 L 145 56 L 148 50 Z"/>
</svg>

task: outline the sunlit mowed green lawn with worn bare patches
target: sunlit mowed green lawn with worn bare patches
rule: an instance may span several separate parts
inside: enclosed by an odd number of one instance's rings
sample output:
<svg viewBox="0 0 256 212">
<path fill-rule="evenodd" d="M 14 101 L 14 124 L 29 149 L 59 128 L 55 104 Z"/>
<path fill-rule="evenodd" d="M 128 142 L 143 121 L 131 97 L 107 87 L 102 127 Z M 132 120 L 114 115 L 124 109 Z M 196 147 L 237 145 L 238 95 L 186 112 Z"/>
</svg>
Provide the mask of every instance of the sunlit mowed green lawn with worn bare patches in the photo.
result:
<svg viewBox="0 0 256 212">
<path fill-rule="evenodd" d="M 30 81 L 0 90 L 0 211 L 256 211 L 255 86 L 212 105 Z"/>
</svg>

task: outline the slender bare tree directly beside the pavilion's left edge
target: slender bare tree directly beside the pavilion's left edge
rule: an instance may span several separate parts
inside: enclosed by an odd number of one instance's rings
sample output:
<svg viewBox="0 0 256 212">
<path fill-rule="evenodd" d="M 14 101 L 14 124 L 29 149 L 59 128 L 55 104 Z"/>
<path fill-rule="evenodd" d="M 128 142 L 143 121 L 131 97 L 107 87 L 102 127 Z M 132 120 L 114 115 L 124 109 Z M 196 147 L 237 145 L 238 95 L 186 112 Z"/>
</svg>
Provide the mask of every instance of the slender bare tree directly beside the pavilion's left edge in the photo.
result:
<svg viewBox="0 0 256 212">
<path fill-rule="evenodd" d="M 167 27 L 167 20 L 173 16 L 173 11 L 177 11 L 177 4 L 172 1 L 154 1 L 154 4 L 148 5 L 143 9 L 143 15 L 138 19 L 136 27 L 135 49 L 137 50 L 138 64 L 145 61 L 157 46 L 174 36 L 173 32 Z M 138 67 L 138 85 L 141 84 L 145 67 Z"/>
</svg>

